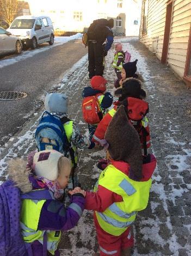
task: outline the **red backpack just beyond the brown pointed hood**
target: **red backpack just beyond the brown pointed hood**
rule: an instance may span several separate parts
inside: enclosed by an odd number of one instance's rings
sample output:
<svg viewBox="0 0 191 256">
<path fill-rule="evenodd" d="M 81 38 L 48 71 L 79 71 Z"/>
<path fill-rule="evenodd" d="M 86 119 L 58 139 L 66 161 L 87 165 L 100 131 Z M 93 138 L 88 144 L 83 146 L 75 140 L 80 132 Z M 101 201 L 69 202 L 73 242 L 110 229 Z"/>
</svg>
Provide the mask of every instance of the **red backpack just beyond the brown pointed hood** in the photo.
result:
<svg viewBox="0 0 191 256">
<path fill-rule="evenodd" d="M 125 106 L 127 117 L 131 121 L 131 124 L 139 133 L 140 142 L 143 144 L 144 154 L 147 155 L 146 137 L 150 137 L 150 134 L 148 134 L 143 125 L 143 119 L 145 118 L 145 115 L 149 113 L 149 103 L 134 97 L 127 97 L 126 100 L 122 101 L 122 105 Z"/>
</svg>

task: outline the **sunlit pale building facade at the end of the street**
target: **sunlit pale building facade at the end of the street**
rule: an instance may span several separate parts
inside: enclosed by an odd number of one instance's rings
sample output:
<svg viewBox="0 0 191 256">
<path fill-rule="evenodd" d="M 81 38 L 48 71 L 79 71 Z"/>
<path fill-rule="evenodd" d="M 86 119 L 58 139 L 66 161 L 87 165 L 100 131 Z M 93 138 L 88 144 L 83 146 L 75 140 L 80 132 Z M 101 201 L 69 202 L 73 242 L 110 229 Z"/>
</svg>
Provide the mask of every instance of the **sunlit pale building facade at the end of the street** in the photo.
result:
<svg viewBox="0 0 191 256">
<path fill-rule="evenodd" d="M 58 31 L 87 31 L 96 19 L 114 19 L 116 35 L 139 35 L 140 0 L 28 0 L 30 14 L 51 17 Z"/>
</svg>

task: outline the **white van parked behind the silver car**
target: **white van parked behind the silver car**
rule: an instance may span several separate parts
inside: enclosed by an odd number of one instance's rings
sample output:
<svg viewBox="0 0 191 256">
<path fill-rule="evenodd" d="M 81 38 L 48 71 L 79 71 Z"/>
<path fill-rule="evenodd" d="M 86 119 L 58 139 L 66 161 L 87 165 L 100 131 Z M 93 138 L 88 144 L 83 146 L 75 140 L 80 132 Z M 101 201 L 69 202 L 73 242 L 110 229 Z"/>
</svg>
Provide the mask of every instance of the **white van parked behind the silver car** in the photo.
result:
<svg viewBox="0 0 191 256">
<path fill-rule="evenodd" d="M 47 16 L 20 16 L 7 29 L 11 34 L 18 36 L 23 46 L 36 48 L 42 42 L 54 44 L 54 28 L 50 17 Z"/>
</svg>

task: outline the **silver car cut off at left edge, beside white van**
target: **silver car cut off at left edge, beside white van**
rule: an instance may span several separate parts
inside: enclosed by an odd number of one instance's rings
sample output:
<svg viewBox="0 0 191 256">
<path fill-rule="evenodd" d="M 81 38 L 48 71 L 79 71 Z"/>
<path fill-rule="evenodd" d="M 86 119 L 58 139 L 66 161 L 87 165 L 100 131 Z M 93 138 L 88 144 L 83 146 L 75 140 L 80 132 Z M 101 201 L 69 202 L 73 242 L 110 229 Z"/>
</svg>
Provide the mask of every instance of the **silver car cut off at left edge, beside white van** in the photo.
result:
<svg viewBox="0 0 191 256">
<path fill-rule="evenodd" d="M 0 27 L 0 55 L 22 51 L 21 39 Z"/>
</svg>

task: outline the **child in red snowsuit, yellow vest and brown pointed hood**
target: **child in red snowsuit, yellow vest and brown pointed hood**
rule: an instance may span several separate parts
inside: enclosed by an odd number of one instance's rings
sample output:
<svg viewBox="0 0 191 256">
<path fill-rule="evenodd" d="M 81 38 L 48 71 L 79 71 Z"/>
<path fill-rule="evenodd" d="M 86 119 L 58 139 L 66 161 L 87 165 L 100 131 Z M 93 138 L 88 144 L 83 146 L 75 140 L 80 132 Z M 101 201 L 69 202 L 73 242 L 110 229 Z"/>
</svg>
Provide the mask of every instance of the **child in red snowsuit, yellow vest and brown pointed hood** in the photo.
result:
<svg viewBox="0 0 191 256">
<path fill-rule="evenodd" d="M 156 167 L 152 154 L 141 154 L 137 131 L 120 106 L 104 137 L 110 163 L 102 171 L 94 192 L 87 191 L 85 209 L 94 210 L 100 251 L 96 255 L 131 255 L 131 224 L 138 211 L 146 208 L 151 175 Z M 74 191 L 78 191 L 78 188 Z"/>
</svg>

